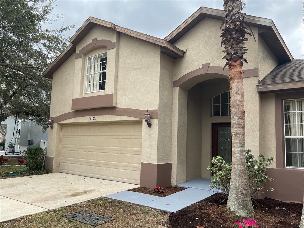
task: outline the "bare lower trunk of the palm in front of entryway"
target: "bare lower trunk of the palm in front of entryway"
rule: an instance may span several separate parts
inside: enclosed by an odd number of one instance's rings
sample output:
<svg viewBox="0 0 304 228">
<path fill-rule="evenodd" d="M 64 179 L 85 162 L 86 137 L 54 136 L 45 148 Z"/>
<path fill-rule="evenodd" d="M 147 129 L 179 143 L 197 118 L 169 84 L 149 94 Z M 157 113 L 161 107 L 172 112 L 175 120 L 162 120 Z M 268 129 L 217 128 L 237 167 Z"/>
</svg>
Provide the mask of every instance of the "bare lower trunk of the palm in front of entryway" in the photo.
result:
<svg viewBox="0 0 304 228">
<path fill-rule="evenodd" d="M 245 154 L 245 110 L 243 63 L 228 62 L 230 74 L 230 112 L 232 140 L 232 171 L 227 210 L 235 215 L 251 217 L 252 207 Z"/>
</svg>

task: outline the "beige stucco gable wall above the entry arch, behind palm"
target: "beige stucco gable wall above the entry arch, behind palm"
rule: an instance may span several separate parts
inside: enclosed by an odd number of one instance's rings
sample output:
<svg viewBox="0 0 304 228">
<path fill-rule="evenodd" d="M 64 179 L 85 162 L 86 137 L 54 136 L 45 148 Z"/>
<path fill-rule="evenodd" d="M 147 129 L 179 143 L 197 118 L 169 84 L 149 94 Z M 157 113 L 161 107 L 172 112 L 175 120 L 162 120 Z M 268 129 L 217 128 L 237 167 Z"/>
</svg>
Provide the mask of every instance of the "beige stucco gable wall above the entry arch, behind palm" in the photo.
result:
<svg viewBox="0 0 304 228">
<path fill-rule="evenodd" d="M 187 50 L 183 58 L 174 61 L 173 78 L 177 80 L 182 75 L 202 67 L 204 63 L 210 66 L 224 66 L 223 47 L 221 47 L 221 26 L 222 21 L 204 18 L 195 27 L 190 29 L 184 36 L 177 40 L 174 45 L 181 50 Z M 255 37 L 258 36 L 258 29 L 252 27 Z M 244 64 L 244 69 L 258 67 L 258 40 L 255 42 L 248 36 L 246 47 L 250 50 L 245 54 L 249 64 Z"/>
</svg>

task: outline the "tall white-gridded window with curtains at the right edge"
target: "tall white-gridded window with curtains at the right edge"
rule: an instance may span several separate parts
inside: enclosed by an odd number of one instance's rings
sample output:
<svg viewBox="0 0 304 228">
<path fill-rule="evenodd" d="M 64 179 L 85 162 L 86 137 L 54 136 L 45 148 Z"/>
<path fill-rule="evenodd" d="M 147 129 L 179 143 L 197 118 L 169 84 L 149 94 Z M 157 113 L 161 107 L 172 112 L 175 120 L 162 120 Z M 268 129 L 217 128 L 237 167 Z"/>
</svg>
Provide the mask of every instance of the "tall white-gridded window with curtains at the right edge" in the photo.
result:
<svg viewBox="0 0 304 228">
<path fill-rule="evenodd" d="M 284 100 L 286 167 L 303 168 L 304 99 Z"/>
</svg>

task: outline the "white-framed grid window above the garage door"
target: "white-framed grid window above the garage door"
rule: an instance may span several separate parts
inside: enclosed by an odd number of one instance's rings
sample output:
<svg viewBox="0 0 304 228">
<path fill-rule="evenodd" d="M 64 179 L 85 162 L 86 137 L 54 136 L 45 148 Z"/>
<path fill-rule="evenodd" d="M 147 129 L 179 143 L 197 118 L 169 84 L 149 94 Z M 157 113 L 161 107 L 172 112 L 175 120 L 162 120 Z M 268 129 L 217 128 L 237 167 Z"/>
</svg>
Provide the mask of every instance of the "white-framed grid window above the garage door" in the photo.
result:
<svg viewBox="0 0 304 228">
<path fill-rule="evenodd" d="M 85 92 L 105 90 L 105 74 L 107 70 L 107 53 L 88 57 Z"/>
</svg>

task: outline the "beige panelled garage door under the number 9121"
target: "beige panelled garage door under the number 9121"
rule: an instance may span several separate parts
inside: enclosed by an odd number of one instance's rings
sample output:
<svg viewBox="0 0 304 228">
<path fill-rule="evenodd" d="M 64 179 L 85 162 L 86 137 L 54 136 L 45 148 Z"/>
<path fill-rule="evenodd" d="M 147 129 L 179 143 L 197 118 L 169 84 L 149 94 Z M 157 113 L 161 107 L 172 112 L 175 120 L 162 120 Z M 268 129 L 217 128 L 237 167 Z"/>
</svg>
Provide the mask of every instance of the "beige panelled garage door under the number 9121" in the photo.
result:
<svg viewBox="0 0 304 228">
<path fill-rule="evenodd" d="M 140 183 L 142 123 L 63 125 L 59 172 Z"/>
</svg>

